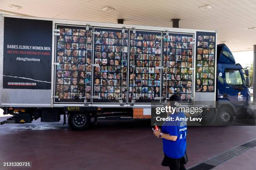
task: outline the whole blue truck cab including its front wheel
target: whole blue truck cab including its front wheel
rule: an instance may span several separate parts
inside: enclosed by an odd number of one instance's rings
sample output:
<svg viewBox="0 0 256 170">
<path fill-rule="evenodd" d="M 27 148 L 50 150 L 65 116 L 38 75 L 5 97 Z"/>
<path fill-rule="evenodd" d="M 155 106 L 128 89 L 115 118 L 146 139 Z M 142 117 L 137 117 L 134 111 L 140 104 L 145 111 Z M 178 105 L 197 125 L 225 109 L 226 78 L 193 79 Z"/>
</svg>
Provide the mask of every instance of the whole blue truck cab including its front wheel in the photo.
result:
<svg viewBox="0 0 256 170">
<path fill-rule="evenodd" d="M 217 120 L 230 123 L 233 116 L 246 115 L 250 101 L 248 70 L 243 69 L 225 44 L 217 46 Z"/>
</svg>

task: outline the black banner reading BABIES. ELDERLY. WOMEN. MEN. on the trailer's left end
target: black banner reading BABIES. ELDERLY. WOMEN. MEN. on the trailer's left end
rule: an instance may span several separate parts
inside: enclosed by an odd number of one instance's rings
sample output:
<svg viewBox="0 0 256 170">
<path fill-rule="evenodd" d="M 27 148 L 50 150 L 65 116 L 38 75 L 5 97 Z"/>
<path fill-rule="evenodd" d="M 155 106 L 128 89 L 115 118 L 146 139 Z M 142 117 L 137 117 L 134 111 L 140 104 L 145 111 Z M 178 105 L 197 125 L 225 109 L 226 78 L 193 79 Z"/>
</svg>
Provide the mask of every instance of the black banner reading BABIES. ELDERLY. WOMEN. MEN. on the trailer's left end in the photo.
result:
<svg viewBox="0 0 256 170">
<path fill-rule="evenodd" d="M 51 89 L 52 21 L 5 18 L 3 88 Z"/>
</svg>

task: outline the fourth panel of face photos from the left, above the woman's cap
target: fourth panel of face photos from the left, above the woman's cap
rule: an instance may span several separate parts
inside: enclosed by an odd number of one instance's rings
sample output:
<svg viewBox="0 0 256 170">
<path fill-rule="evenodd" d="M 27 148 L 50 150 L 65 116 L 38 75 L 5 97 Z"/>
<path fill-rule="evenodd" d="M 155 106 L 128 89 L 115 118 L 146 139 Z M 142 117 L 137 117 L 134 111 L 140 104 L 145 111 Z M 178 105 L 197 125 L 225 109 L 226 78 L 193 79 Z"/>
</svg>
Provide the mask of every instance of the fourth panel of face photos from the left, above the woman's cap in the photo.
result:
<svg viewBox="0 0 256 170">
<path fill-rule="evenodd" d="M 166 34 L 166 33 L 165 33 Z M 162 97 L 178 94 L 182 100 L 190 100 L 193 92 L 193 35 L 174 34 L 164 36 Z"/>
</svg>

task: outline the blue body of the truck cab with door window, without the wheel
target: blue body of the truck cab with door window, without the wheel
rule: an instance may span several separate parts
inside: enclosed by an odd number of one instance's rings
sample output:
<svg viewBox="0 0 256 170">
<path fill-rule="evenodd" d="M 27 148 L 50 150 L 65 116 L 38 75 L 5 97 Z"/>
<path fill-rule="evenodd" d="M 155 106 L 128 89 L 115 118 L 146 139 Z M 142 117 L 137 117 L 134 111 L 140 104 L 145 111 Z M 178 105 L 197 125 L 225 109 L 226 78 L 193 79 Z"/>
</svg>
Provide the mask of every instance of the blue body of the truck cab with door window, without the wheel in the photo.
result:
<svg viewBox="0 0 256 170">
<path fill-rule="evenodd" d="M 248 105 L 248 87 L 246 87 L 243 67 L 236 64 L 231 51 L 225 44 L 217 46 L 217 100 L 227 101 L 233 109 L 239 110 Z"/>
</svg>

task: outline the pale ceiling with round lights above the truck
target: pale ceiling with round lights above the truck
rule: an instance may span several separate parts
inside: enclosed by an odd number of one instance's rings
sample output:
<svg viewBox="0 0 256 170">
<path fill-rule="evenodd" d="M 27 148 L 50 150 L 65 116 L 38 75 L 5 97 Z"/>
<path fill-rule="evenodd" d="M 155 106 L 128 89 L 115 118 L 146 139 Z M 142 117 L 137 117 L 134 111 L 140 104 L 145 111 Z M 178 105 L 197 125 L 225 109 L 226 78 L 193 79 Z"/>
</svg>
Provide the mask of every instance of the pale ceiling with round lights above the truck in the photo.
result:
<svg viewBox="0 0 256 170">
<path fill-rule="evenodd" d="M 9 5 L 19 5 L 19 10 Z M 204 5 L 212 9 L 201 10 Z M 102 7 L 113 7 L 106 12 Z M 179 27 L 218 30 L 218 43 L 228 41 L 232 51 L 253 50 L 256 44 L 256 0 L 0 0 L 0 13 L 10 11 L 40 18 L 83 20 L 172 27 L 172 18 L 180 18 Z"/>
</svg>

